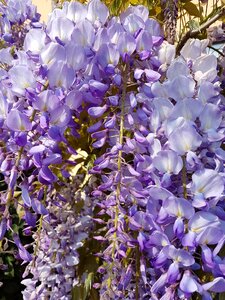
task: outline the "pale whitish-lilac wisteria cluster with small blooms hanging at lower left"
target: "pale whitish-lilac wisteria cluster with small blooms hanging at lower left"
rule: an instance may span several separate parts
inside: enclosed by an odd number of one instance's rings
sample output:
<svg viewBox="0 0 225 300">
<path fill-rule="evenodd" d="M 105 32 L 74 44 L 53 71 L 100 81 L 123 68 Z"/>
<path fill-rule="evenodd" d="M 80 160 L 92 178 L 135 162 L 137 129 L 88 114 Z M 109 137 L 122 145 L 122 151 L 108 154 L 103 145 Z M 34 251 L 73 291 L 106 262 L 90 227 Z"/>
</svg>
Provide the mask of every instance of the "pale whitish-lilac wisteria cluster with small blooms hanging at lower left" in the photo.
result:
<svg viewBox="0 0 225 300">
<path fill-rule="evenodd" d="M 73 286 L 79 284 L 77 250 L 91 230 L 92 206 L 87 188 L 79 192 L 78 182 L 74 183 L 76 190 L 71 186 L 64 189 L 67 201 L 63 208 L 49 206 L 48 219 L 40 219 L 39 229 L 33 235 L 34 256 L 24 273 L 24 277 L 33 277 L 22 281 L 26 285 L 23 299 L 71 299 Z M 73 191 L 75 196 L 71 197 Z M 76 207 L 76 201 L 81 200 L 85 203 L 82 213 Z"/>
</svg>

